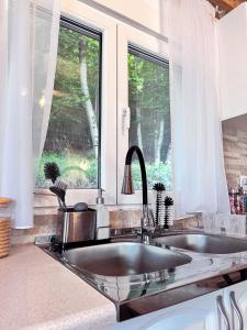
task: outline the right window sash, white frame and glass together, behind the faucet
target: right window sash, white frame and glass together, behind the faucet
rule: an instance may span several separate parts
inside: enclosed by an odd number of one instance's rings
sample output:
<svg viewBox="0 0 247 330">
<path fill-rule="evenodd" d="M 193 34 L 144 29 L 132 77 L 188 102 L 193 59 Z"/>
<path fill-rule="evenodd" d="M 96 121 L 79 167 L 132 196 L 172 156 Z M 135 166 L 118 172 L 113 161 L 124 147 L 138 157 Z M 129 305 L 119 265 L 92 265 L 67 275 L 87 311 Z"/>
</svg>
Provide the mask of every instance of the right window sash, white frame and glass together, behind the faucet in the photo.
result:
<svg viewBox="0 0 247 330">
<path fill-rule="evenodd" d="M 124 157 L 131 145 L 143 151 L 148 200 L 161 182 L 172 189 L 171 120 L 167 43 L 127 25 L 117 29 L 117 204 L 142 202 L 138 161 L 133 160 L 135 195 L 121 194 Z"/>
</svg>

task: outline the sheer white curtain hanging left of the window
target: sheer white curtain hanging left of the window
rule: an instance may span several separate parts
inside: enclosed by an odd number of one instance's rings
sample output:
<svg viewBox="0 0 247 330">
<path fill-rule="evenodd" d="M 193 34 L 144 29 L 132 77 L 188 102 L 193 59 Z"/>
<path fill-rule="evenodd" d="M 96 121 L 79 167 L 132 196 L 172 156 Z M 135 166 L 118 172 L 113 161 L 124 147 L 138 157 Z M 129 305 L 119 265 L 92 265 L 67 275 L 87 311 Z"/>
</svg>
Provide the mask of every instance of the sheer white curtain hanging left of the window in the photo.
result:
<svg viewBox="0 0 247 330">
<path fill-rule="evenodd" d="M 59 15 L 59 0 L 9 0 L 8 44 L 0 50 L 1 57 L 9 54 L 8 91 L 0 90 L 0 195 L 15 200 L 13 227 L 20 229 L 33 227 L 35 166 L 48 125 Z"/>
</svg>

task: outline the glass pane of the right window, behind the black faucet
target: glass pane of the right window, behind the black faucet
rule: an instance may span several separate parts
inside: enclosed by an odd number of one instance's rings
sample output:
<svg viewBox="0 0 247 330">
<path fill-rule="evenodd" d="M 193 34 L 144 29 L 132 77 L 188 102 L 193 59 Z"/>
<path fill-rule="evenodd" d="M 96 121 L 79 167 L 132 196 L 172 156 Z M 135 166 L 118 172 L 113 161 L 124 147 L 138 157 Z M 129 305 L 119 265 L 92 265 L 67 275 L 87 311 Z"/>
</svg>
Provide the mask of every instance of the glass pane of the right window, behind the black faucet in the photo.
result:
<svg viewBox="0 0 247 330">
<path fill-rule="evenodd" d="M 148 187 L 157 182 L 171 188 L 171 131 L 168 65 L 155 56 L 128 50 L 128 143 L 138 145 L 146 162 Z M 142 186 L 137 161 L 134 185 Z"/>
</svg>

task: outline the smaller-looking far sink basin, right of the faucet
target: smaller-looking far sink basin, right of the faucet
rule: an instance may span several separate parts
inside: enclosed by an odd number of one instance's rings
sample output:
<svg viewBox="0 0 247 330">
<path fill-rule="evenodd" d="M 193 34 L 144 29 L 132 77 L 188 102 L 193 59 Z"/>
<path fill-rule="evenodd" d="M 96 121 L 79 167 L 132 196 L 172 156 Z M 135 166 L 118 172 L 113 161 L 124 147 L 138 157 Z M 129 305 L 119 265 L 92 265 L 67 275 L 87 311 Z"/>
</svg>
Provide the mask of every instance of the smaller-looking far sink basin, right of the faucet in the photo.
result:
<svg viewBox="0 0 247 330">
<path fill-rule="evenodd" d="M 227 254 L 247 251 L 247 241 L 210 234 L 179 234 L 155 239 L 155 243 L 201 253 Z"/>
</svg>

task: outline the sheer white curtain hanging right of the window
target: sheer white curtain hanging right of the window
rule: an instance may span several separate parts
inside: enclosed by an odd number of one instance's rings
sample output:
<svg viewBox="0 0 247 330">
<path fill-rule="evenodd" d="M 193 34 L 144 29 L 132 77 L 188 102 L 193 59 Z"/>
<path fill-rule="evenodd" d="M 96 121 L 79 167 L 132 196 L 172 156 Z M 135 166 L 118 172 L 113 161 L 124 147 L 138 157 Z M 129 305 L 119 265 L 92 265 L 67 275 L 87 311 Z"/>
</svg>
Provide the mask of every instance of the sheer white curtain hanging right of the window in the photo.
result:
<svg viewBox="0 0 247 330">
<path fill-rule="evenodd" d="M 229 212 L 213 7 L 168 0 L 170 101 L 178 215 Z"/>
</svg>

